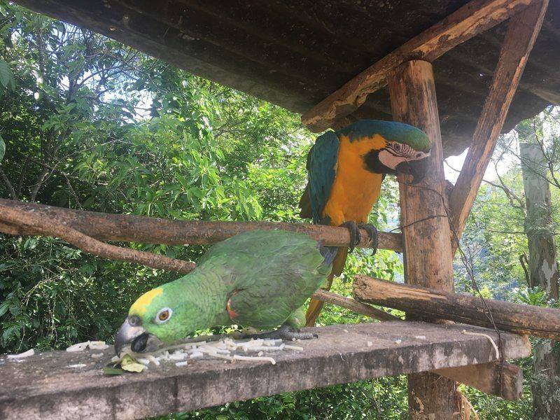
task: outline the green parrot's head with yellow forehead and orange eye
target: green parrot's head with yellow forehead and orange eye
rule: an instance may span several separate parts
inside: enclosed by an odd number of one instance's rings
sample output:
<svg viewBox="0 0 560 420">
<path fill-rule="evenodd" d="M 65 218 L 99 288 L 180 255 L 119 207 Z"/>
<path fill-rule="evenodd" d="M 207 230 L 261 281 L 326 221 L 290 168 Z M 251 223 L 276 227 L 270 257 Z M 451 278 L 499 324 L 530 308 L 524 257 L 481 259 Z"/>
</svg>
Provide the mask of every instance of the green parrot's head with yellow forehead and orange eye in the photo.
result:
<svg viewBox="0 0 560 420">
<path fill-rule="evenodd" d="M 200 307 L 185 299 L 177 290 L 177 281 L 149 290 L 141 295 L 128 311 L 115 338 L 115 352 L 130 344 L 136 353 L 153 351 L 196 330 Z"/>
</svg>

